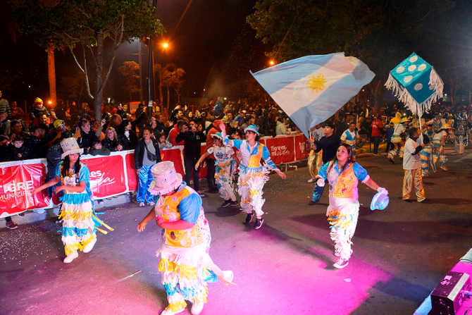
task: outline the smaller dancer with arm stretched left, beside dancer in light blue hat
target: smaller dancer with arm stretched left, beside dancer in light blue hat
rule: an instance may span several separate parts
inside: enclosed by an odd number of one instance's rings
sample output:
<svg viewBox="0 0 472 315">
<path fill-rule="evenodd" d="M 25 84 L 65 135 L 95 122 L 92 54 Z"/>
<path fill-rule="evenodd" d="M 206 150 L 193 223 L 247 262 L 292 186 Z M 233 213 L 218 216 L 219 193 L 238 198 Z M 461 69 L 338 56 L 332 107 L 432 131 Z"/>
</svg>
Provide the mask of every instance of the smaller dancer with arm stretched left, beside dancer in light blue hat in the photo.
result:
<svg viewBox="0 0 472 315">
<path fill-rule="evenodd" d="M 225 201 L 221 205 L 223 208 L 237 204 L 234 187 L 232 187 L 232 173 L 235 167 L 235 151 L 229 145 L 223 144 L 221 132 L 211 135 L 214 140 L 213 146 L 209 147 L 200 159 L 195 163 L 195 170 L 198 170 L 200 163 L 211 154 L 215 156 L 215 181 L 220 192 L 220 197 Z"/>
</svg>

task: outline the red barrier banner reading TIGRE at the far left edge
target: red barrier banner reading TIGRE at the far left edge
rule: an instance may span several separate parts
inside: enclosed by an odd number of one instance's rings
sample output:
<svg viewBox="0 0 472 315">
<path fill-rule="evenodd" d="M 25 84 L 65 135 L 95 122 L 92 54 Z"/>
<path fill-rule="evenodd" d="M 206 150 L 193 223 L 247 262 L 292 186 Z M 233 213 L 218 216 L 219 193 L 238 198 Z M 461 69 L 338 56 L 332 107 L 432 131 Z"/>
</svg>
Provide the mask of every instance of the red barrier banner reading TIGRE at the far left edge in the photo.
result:
<svg viewBox="0 0 472 315">
<path fill-rule="evenodd" d="M 45 191 L 32 194 L 44 183 L 46 167 L 42 163 L 20 164 L 1 168 L 0 214 L 15 214 L 26 209 L 49 206 Z"/>
</svg>

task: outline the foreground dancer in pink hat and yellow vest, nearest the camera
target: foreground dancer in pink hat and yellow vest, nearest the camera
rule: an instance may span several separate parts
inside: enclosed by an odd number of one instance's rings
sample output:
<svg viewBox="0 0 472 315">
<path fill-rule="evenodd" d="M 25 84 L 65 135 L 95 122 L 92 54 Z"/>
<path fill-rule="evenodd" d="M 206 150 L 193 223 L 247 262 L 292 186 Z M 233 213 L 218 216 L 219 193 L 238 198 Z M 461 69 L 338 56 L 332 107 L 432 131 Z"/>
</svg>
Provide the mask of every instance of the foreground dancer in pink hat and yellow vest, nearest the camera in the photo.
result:
<svg viewBox="0 0 472 315">
<path fill-rule="evenodd" d="M 158 268 L 169 304 L 161 315 L 184 311 L 185 300 L 192 302 L 192 314 L 200 314 L 208 295 L 206 283 L 216 282 L 217 276 L 231 283 L 232 271 L 222 271 L 211 260 L 211 234 L 201 197 L 182 182 L 174 163 L 157 163 L 151 172 L 154 180 L 149 192 L 158 198 L 137 230 L 142 232 L 153 219 L 163 228 L 163 244 L 157 256 L 161 257 Z"/>
</svg>

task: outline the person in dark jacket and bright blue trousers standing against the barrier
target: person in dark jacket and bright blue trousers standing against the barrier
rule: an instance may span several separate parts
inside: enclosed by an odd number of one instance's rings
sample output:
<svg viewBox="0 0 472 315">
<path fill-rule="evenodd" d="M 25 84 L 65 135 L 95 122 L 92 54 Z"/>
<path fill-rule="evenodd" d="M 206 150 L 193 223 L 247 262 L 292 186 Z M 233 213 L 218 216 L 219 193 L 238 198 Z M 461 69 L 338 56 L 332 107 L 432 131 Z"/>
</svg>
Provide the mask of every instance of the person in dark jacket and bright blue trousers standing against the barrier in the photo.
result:
<svg viewBox="0 0 472 315">
<path fill-rule="evenodd" d="M 159 144 L 151 138 L 151 135 L 152 129 L 144 127 L 142 139 L 137 142 L 135 149 L 135 168 L 138 175 L 136 201 L 139 206 L 144 206 L 145 202 L 149 206 L 154 206 L 154 197 L 148 188 L 152 182 L 151 168 L 161 161 L 161 152 Z"/>
</svg>

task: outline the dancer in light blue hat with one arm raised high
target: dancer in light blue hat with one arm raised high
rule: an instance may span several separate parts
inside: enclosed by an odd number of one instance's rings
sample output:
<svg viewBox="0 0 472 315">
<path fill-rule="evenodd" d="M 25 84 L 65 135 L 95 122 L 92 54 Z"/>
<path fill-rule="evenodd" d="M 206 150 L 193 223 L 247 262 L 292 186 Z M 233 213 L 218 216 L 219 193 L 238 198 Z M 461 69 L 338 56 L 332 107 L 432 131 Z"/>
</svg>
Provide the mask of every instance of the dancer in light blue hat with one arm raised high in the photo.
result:
<svg viewBox="0 0 472 315">
<path fill-rule="evenodd" d="M 285 179 L 285 173 L 275 166 L 267 147 L 257 141 L 259 131 L 256 125 L 249 125 L 244 129 L 246 140 L 229 140 L 224 123 L 221 123 L 220 129 L 224 143 L 230 144 L 231 147 L 235 147 L 241 152 L 237 192 L 241 196 L 241 208 L 247 214 L 244 223 L 251 222 L 254 211 L 256 213 L 254 228 L 259 229 L 264 221 L 262 206 L 265 200 L 262 198 L 262 188 L 269 179 L 267 174 L 270 171 L 275 171 L 280 178 Z M 266 165 L 261 165 L 261 159 L 266 162 Z"/>
</svg>

